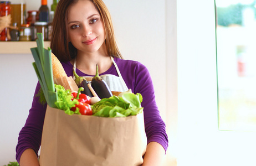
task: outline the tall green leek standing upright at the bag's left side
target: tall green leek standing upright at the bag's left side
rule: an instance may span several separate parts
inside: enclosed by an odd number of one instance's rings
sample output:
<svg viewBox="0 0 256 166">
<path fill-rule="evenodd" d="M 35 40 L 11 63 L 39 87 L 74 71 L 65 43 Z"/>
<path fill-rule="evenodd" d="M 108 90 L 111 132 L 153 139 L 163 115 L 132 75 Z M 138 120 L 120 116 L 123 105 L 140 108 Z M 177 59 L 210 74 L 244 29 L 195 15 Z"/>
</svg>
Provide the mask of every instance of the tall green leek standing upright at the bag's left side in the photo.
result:
<svg viewBox="0 0 256 166">
<path fill-rule="evenodd" d="M 50 107 L 56 108 L 54 102 L 57 101 L 57 93 L 55 92 L 53 82 L 52 50 L 44 48 L 42 33 L 37 33 L 37 37 L 37 47 L 30 49 L 35 60 L 32 64 L 47 104 Z"/>
</svg>

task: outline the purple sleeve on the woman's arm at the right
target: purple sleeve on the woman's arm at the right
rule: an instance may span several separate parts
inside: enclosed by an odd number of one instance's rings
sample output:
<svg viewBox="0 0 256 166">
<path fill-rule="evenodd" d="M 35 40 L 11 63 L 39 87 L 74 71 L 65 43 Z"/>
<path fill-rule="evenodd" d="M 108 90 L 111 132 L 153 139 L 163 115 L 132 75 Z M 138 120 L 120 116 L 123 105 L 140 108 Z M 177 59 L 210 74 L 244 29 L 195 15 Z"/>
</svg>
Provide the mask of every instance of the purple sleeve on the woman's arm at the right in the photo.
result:
<svg viewBox="0 0 256 166">
<path fill-rule="evenodd" d="M 117 65 L 129 89 L 143 97 L 145 131 L 147 142 L 160 143 L 165 151 L 168 147 L 166 125 L 163 122 L 155 100 L 155 90 L 149 70 L 145 65 L 130 60 L 117 59 Z"/>
</svg>

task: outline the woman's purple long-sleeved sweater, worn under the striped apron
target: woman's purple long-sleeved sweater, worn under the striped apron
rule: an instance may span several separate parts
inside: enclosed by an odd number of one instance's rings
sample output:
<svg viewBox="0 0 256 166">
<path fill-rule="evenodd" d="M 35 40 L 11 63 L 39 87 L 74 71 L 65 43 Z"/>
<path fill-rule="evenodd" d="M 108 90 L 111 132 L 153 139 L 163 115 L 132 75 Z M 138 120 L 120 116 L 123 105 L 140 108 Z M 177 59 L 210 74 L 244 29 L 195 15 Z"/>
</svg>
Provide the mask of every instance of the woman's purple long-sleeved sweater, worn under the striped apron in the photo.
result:
<svg viewBox="0 0 256 166">
<path fill-rule="evenodd" d="M 166 151 L 168 147 L 168 137 L 165 130 L 165 123 L 163 122 L 156 105 L 155 92 L 149 71 L 144 65 L 137 61 L 122 60 L 119 58 L 115 58 L 114 60 L 128 89 L 131 89 L 134 94 L 140 93 L 143 97 L 141 106 L 144 107 L 147 143 L 152 141 L 158 142 Z M 73 65 L 71 65 L 70 62 L 62 63 L 62 65 L 66 74 L 68 76 L 73 76 Z M 76 69 L 76 73 L 79 76 L 91 76 L 84 74 L 78 69 Z M 103 74 L 118 76 L 114 65 L 101 75 Z M 38 94 L 39 89 L 40 85 L 38 83 L 35 89 L 35 95 Z M 18 162 L 22 153 L 27 148 L 34 149 L 35 153 L 38 154 L 41 144 L 46 107 L 47 105 L 41 105 L 38 102 L 38 97 L 34 96 L 27 121 L 21 129 L 18 137 L 18 144 L 16 147 L 16 159 Z"/>
</svg>

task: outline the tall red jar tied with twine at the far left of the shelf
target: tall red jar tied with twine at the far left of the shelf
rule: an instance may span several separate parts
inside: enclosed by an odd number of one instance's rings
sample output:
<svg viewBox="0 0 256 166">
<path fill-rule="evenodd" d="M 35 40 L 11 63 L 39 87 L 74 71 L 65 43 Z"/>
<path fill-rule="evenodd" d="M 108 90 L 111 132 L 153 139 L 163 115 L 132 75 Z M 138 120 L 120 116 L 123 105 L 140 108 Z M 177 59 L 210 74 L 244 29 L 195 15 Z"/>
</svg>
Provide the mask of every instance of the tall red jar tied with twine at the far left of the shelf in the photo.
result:
<svg viewBox="0 0 256 166">
<path fill-rule="evenodd" d="M 11 24 L 11 2 L 0 2 L 0 40 L 8 41 L 8 28 Z"/>
</svg>

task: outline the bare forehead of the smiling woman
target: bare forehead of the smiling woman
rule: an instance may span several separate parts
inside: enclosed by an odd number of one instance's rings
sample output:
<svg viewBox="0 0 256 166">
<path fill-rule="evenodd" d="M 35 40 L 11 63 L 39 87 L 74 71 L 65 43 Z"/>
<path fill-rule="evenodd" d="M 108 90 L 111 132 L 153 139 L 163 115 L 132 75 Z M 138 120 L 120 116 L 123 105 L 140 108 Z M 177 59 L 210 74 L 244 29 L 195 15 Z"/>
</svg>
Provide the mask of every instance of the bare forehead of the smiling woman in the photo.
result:
<svg viewBox="0 0 256 166">
<path fill-rule="evenodd" d="M 99 14 L 93 2 L 89 0 L 78 0 L 72 4 L 68 10 L 68 19 L 76 17 L 88 17 L 91 14 Z"/>
</svg>

